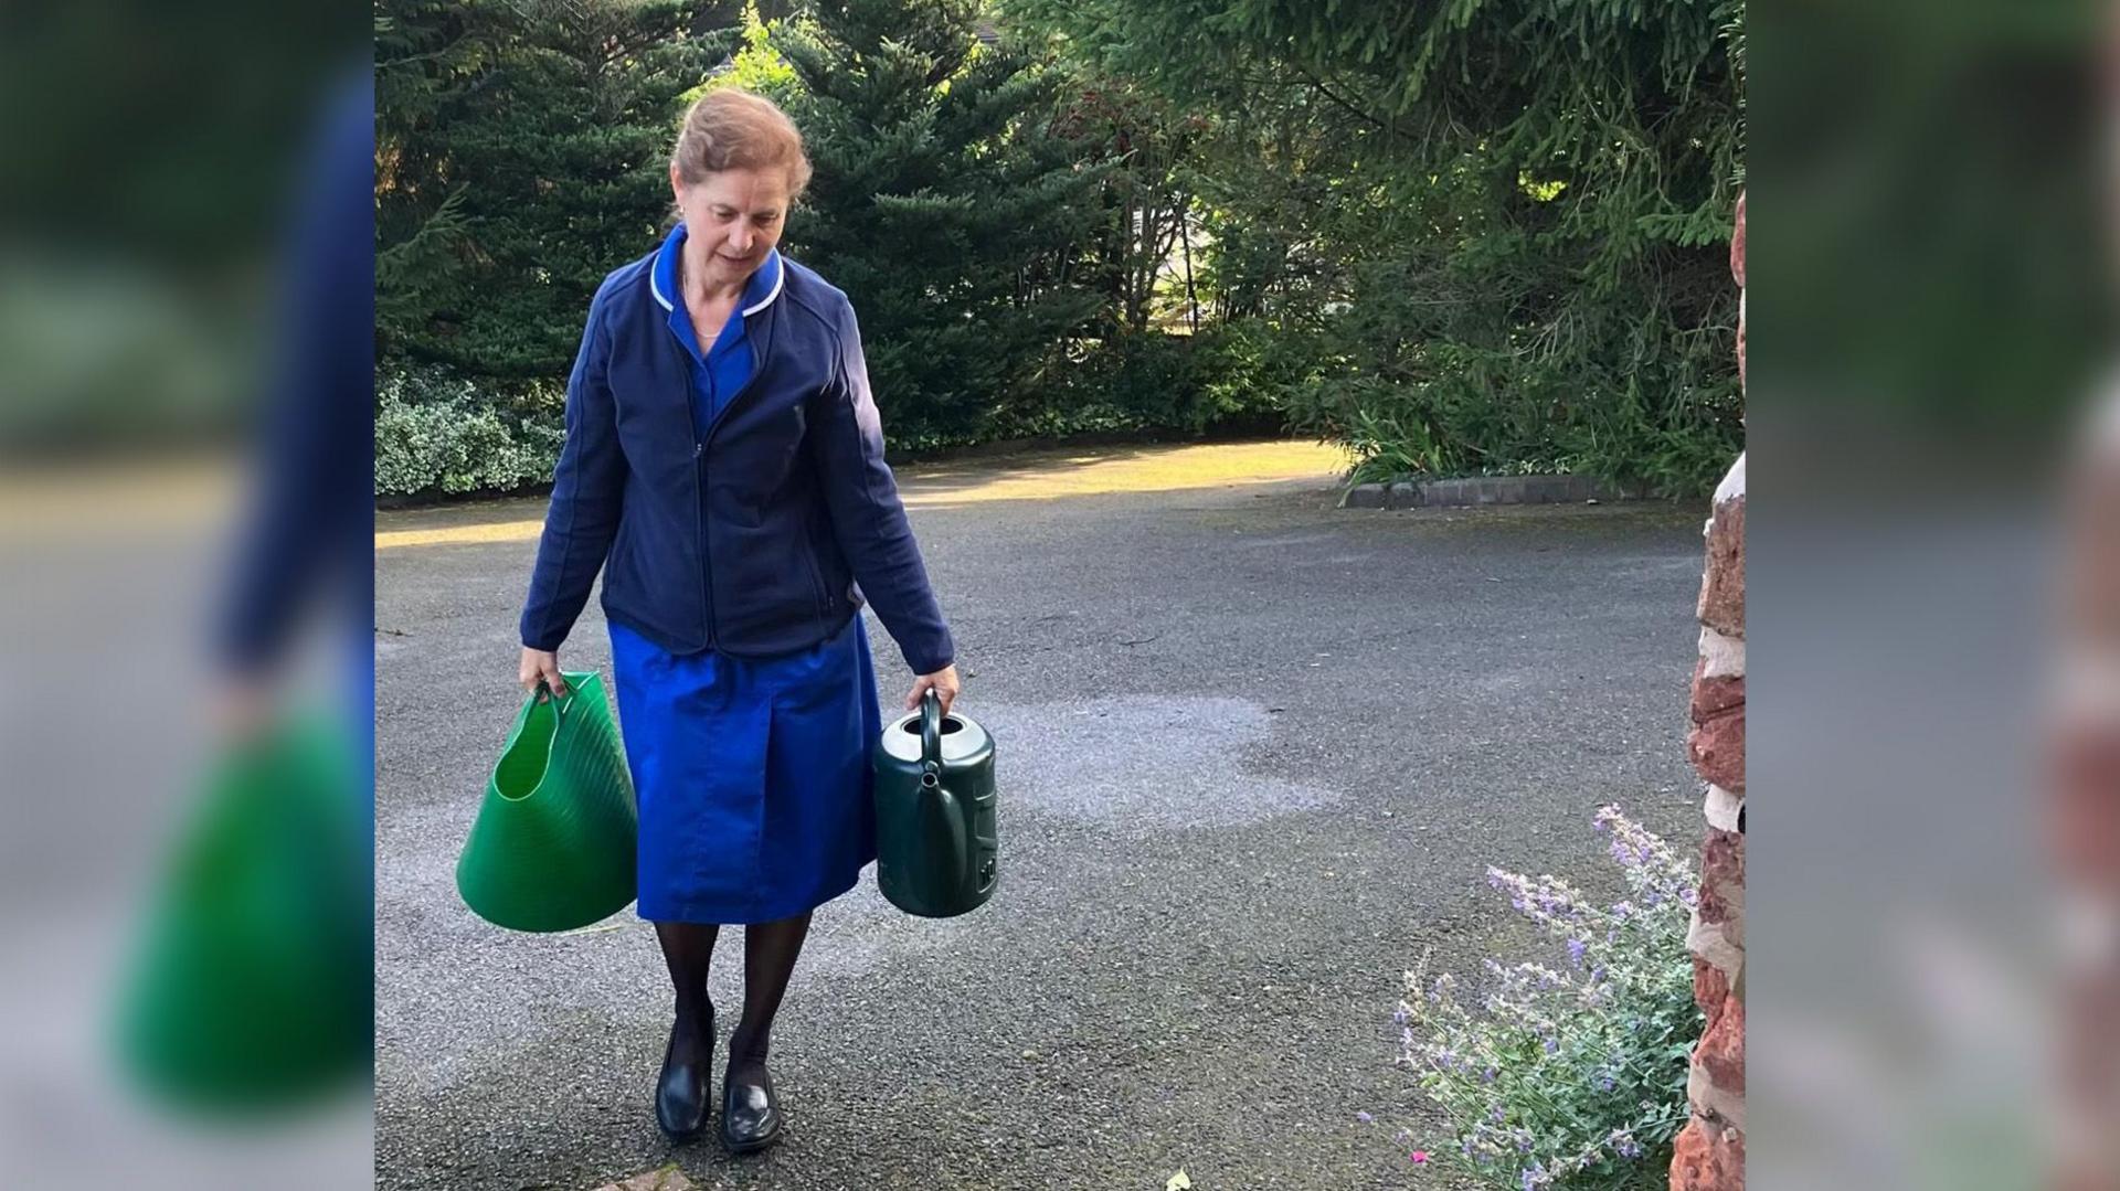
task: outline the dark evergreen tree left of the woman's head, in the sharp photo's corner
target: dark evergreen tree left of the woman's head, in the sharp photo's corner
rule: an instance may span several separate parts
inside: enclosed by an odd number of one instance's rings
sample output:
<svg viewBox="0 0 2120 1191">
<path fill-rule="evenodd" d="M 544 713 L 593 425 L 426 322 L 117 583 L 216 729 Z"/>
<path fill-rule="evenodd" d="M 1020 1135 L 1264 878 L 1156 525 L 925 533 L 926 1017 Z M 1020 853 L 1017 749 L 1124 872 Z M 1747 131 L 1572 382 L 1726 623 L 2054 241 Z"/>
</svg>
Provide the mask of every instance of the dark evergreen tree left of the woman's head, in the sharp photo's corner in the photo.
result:
<svg viewBox="0 0 2120 1191">
<path fill-rule="evenodd" d="M 693 0 L 382 0 L 384 350 L 564 373 L 598 282 L 664 225 L 683 97 L 738 17 Z"/>
</svg>

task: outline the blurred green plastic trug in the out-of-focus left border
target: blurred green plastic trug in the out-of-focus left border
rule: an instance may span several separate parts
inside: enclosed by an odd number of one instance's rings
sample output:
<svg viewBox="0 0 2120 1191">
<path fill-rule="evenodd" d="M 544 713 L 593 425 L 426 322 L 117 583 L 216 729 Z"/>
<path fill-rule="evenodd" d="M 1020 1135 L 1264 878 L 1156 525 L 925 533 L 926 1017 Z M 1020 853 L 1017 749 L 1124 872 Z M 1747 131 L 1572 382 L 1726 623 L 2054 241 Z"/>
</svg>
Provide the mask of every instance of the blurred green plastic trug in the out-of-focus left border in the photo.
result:
<svg viewBox="0 0 2120 1191">
<path fill-rule="evenodd" d="M 373 1068 L 373 816 L 348 731 L 290 716 L 227 750 L 155 890 L 117 1057 L 157 1098 L 295 1106 Z"/>
</svg>

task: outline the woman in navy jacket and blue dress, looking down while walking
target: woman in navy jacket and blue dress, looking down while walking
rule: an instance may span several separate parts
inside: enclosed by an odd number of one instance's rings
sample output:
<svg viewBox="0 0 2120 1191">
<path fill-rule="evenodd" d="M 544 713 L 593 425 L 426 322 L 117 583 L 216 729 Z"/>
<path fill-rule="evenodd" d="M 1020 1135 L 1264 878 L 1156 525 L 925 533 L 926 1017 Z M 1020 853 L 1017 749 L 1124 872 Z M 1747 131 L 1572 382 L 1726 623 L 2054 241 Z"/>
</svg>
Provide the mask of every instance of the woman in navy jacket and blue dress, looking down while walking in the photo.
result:
<svg viewBox="0 0 2120 1191">
<path fill-rule="evenodd" d="M 555 651 L 602 570 L 638 913 L 676 990 L 655 1119 L 687 1140 L 712 1110 L 706 968 L 719 928 L 742 924 L 721 1098 L 738 1153 L 780 1136 L 765 1057 L 810 911 L 876 858 L 863 600 L 918 676 L 907 708 L 958 693 L 854 312 L 776 250 L 808 180 L 774 104 L 721 89 L 685 117 L 670 157 L 683 223 L 589 303 L 522 615 L 522 685 L 564 693 Z"/>
</svg>

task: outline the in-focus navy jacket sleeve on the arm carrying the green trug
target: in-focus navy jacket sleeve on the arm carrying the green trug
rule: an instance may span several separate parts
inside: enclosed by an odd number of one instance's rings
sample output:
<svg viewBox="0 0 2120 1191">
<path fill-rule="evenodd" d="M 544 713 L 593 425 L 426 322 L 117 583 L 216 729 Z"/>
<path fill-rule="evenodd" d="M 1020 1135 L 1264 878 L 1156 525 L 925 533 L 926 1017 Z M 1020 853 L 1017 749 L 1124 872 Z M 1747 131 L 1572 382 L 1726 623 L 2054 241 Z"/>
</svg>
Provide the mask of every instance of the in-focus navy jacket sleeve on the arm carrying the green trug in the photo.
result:
<svg viewBox="0 0 2120 1191">
<path fill-rule="evenodd" d="M 598 290 L 566 381 L 566 443 L 553 468 L 545 536 L 530 572 L 530 598 L 524 602 L 522 640 L 530 648 L 560 648 L 589 602 L 589 587 L 619 532 L 625 454 L 619 449 L 619 417 L 611 398 L 611 335 L 602 316 L 604 290 Z"/>
</svg>

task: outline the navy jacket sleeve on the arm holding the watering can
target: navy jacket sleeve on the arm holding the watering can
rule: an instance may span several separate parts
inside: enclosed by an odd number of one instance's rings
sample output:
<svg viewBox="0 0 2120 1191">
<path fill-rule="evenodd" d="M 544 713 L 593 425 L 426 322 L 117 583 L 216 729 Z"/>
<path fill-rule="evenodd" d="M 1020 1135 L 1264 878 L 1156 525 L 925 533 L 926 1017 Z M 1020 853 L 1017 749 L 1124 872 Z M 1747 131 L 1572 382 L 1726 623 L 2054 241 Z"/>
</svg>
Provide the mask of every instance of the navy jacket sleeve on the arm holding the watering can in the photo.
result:
<svg viewBox="0 0 2120 1191">
<path fill-rule="evenodd" d="M 905 665 L 914 674 L 935 674 L 956 659 L 956 644 L 929 587 L 897 479 L 884 462 L 884 424 L 869 394 L 869 365 L 852 307 L 840 316 L 835 354 L 831 381 L 812 398 L 808 430 L 831 530 L 861 593 L 899 642 Z"/>
</svg>

